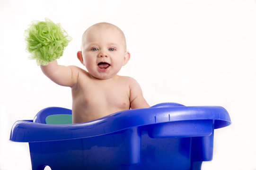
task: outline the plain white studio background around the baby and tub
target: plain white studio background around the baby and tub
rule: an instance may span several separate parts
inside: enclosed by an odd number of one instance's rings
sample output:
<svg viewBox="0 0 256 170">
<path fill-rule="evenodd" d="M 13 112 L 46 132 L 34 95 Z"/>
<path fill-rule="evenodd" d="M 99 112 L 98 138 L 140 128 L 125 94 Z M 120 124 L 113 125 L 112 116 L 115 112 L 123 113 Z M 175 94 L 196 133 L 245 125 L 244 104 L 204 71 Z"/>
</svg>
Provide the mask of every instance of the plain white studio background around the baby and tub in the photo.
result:
<svg viewBox="0 0 256 170">
<path fill-rule="evenodd" d="M 131 60 L 120 75 L 141 85 L 150 105 L 217 105 L 232 125 L 215 130 L 213 160 L 202 170 L 256 170 L 255 0 L 1 0 L 0 170 L 30 170 L 27 143 L 9 141 L 13 123 L 49 106 L 71 109 L 71 90 L 27 59 L 24 30 L 49 17 L 73 40 L 59 59 L 76 58 L 83 32 L 98 22 L 120 27 Z"/>
</svg>

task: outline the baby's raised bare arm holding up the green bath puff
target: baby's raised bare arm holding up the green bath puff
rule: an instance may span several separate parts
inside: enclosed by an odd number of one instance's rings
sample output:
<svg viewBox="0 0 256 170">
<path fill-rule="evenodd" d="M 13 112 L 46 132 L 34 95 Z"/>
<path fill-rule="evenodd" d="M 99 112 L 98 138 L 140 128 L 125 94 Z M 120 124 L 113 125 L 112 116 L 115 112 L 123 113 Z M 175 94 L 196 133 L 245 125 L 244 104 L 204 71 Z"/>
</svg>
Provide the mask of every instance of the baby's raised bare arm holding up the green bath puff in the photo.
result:
<svg viewBox="0 0 256 170">
<path fill-rule="evenodd" d="M 40 66 L 45 76 L 58 85 L 72 87 L 77 83 L 78 71 L 75 66 L 58 65 L 57 60 L 49 62 L 47 66 Z"/>
</svg>

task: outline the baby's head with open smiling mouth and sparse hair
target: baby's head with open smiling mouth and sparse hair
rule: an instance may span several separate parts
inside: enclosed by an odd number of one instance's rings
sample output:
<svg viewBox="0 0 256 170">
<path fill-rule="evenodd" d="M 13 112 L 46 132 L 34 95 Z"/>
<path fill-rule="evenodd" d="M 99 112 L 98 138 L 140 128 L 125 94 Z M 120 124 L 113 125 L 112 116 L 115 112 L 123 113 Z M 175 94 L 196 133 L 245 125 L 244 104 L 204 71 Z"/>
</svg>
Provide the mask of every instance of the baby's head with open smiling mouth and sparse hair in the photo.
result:
<svg viewBox="0 0 256 170">
<path fill-rule="evenodd" d="M 130 59 L 123 31 L 109 23 L 95 24 L 84 32 L 77 56 L 98 79 L 113 78 Z"/>
</svg>

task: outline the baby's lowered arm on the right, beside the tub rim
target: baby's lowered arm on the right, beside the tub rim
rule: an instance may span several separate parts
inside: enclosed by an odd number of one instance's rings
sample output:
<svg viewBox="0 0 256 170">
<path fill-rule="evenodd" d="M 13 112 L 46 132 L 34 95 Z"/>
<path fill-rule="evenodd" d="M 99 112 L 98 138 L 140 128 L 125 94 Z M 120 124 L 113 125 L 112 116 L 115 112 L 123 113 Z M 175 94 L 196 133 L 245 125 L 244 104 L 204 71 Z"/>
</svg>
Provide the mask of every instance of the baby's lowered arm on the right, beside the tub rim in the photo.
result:
<svg viewBox="0 0 256 170">
<path fill-rule="evenodd" d="M 130 81 L 130 103 L 132 109 L 149 108 L 150 105 L 143 97 L 141 86 L 131 78 Z"/>
</svg>

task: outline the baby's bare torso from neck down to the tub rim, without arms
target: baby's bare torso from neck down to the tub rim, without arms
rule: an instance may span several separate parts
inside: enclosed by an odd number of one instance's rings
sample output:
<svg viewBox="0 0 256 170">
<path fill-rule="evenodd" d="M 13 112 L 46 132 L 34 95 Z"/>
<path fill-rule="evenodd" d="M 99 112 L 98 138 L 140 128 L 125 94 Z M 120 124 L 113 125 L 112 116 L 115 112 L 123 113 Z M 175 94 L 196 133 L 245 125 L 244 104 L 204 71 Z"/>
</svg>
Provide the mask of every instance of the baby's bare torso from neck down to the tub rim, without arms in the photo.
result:
<svg viewBox="0 0 256 170">
<path fill-rule="evenodd" d="M 130 109 L 130 87 L 126 77 L 99 80 L 79 75 L 78 84 L 72 87 L 73 123 L 102 118 L 121 110 Z"/>
</svg>

